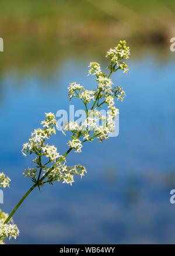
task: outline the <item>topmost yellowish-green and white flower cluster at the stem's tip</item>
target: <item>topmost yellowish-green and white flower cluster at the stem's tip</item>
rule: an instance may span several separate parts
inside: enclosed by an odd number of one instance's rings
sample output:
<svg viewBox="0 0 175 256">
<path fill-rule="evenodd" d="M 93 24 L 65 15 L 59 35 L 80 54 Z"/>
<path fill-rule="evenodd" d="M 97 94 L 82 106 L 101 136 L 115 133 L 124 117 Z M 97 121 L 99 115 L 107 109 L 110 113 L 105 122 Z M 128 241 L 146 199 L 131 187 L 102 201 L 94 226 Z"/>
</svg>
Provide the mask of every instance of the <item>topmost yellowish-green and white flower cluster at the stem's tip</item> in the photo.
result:
<svg viewBox="0 0 175 256">
<path fill-rule="evenodd" d="M 130 55 L 130 48 L 127 47 L 126 41 L 120 41 L 117 47 L 111 48 L 107 51 L 106 57 L 109 57 L 111 63 L 116 64 L 124 72 L 128 72 L 128 65 L 124 60 L 128 60 Z"/>
</svg>

